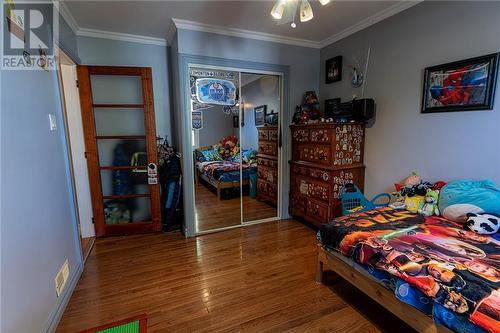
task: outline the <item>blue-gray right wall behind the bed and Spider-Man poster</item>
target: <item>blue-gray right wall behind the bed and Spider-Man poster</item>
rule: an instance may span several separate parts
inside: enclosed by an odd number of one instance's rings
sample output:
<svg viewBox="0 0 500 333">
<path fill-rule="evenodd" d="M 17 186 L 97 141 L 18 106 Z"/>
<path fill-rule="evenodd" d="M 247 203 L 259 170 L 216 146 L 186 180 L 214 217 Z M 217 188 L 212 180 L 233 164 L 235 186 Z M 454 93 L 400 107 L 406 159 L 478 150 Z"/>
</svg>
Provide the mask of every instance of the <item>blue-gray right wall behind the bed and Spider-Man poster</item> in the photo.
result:
<svg viewBox="0 0 500 333">
<path fill-rule="evenodd" d="M 348 65 L 371 43 L 365 97 L 375 99 L 367 130 L 366 192 L 386 191 L 418 170 L 431 180 L 489 178 L 500 185 L 500 85 L 493 111 L 421 114 L 425 67 L 500 50 L 500 2 L 423 2 L 321 50 L 344 57 L 343 80 L 324 84 L 322 99 L 360 97 Z"/>
</svg>

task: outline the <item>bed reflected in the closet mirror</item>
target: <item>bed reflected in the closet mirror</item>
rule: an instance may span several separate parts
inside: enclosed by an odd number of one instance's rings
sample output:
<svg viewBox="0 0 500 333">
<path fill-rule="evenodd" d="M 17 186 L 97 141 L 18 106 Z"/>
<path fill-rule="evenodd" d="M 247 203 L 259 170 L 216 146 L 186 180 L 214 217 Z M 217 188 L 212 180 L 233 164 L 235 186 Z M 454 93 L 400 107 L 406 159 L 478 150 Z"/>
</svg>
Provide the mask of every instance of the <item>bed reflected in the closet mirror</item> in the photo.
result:
<svg viewBox="0 0 500 333">
<path fill-rule="evenodd" d="M 206 184 L 212 186 L 217 192 L 217 199 L 221 199 L 221 191 L 228 188 L 239 188 L 248 185 L 250 174 L 257 172 L 254 162 L 240 163 L 237 160 L 219 160 L 207 158 L 208 151 L 212 151 L 213 146 L 197 148 L 194 152 L 195 160 L 195 181 L 204 180 Z M 205 152 L 205 155 L 203 155 Z M 205 156 L 200 158 L 200 156 Z M 241 169 L 240 169 L 241 168 Z M 241 174 L 241 177 L 240 177 Z"/>
</svg>

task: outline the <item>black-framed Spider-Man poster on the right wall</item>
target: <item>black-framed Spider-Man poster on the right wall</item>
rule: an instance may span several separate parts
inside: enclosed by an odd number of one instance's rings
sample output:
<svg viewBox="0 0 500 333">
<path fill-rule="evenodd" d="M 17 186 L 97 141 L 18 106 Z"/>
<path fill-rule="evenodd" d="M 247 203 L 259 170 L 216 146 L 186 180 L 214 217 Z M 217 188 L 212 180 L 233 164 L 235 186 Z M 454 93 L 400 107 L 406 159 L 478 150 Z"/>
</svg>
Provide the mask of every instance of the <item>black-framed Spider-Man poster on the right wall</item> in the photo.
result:
<svg viewBox="0 0 500 333">
<path fill-rule="evenodd" d="M 422 113 L 492 110 L 499 53 L 427 67 Z"/>
</svg>

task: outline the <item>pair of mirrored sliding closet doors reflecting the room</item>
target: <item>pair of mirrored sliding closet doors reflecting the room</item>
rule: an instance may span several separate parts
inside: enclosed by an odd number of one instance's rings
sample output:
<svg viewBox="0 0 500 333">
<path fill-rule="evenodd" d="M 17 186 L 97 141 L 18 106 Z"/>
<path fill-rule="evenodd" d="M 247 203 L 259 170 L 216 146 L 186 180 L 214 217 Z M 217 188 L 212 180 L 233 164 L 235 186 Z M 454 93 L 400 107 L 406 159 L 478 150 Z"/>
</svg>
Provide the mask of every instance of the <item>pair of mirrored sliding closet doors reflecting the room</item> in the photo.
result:
<svg viewBox="0 0 500 333">
<path fill-rule="evenodd" d="M 195 233 L 279 220 L 282 75 L 188 68 Z"/>
</svg>

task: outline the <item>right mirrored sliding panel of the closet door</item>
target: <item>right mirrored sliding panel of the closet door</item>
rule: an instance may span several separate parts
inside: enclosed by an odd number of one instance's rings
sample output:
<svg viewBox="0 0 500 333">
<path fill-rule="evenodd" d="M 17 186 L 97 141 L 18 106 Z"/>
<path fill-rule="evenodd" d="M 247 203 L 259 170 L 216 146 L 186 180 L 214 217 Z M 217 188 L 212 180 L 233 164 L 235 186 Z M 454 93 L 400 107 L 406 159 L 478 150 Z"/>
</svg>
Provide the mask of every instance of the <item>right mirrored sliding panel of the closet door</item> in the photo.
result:
<svg viewBox="0 0 500 333">
<path fill-rule="evenodd" d="M 244 126 L 240 130 L 243 166 L 249 171 L 243 187 L 243 222 L 278 216 L 280 77 L 241 74 Z"/>
</svg>

